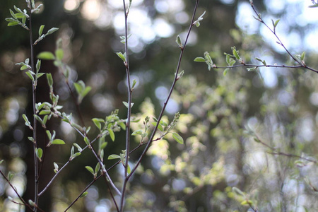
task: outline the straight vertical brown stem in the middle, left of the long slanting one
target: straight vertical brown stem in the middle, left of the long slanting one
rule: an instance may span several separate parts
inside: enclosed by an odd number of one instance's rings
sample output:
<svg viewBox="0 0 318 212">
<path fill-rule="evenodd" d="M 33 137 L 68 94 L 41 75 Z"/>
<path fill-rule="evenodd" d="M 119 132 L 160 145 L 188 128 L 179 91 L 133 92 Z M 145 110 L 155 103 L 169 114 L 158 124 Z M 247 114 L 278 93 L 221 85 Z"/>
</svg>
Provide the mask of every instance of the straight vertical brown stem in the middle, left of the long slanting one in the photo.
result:
<svg viewBox="0 0 318 212">
<path fill-rule="evenodd" d="M 126 4 L 125 0 L 123 0 L 124 5 L 124 16 L 125 16 L 125 52 L 126 52 L 126 76 L 127 76 L 127 91 L 128 91 L 128 110 L 127 110 L 127 122 L 126 122 L 126 157 L 124 162 L 124 182 L 122 185 L 122 196 L 120 199 L 120 210 L 124 210 L 124 198 L 125 198 L 125 192 L 126 192 L 126 185 L 128 182 L 129 177 L 127 177 L 127 170 L 128 170 L 128 164 L 129 164 L 129 151 L 130 151 L 130 119 L 131 119 L 131 83 L 130 83 L 130 70 L 129 70 L 129 52 L 128 52 L 128 13 L 126 12 Z"/>
</svg>

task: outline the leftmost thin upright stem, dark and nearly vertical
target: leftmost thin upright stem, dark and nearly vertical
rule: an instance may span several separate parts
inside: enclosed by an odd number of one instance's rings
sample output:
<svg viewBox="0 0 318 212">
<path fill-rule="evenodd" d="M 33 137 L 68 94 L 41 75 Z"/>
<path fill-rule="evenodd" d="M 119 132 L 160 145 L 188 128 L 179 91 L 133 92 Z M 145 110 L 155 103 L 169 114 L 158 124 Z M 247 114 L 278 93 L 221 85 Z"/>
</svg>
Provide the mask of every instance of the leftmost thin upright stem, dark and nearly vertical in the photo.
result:
<svg viewBox="0 0 318 212">
<path fill-rule="evenodd" d="M 32 35 L 32 9 L 29 8 L 30 12 L 30 18 L 29 18 L 29 36 L 30 36 L 30 52 L 31 52 L 31 69 L 33 72 L 35 72 L 35 66 L 34 66 L 34 48 L 33 48 L 33 35 Z M 35 104 L 36 104 L 36 84 L 37 80 L 33 81 L 32 85 L 32 95 L 33 95 L 33 114 L 36 113 L 35 110 Z M 37 155 L 36 155 L 36 148 L 37 148 L 37 119 L 33 116 L 33 157 L 34 157 L 34 179 L 35 179 L 35 187 L 34 187 L 34 202 L 37 205 L 38 203 L 38 190 L 39 190 L 39 181 L 38 181 L 38 165 L 37 165 Z M 34 211 L 37 211 L 37 208 L 34 207 Z"/>
</svg>

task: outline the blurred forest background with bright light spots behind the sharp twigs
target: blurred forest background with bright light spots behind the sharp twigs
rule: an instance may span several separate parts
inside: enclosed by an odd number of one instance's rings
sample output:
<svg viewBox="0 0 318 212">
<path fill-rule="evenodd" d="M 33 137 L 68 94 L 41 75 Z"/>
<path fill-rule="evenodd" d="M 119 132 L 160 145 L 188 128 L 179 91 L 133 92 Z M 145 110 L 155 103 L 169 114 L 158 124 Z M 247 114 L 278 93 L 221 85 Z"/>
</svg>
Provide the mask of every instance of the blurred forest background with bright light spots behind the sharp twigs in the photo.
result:
<svg viewBox="0 0 318 212">
<path fill-rule="evenodd" d="M 82 80 L 92 90 L 80 105 L 85 126 L 96 128 L 91 119 L 105 117 L 119 109 L 126 118 L 126 72 L 115 52 L 123 51 L 122 1 L 65 0 L 36 1 L 44 7 L 33 16 L 39 28 L 59 28 L 41 41 L 35 55 L 54 52 L 61 38 L 64 62 L 71 67 L 71 81 Z M 136 79 L 132 112 L 143 119 L 158 117 L 174 78 L 179 48 L 175 37 L 184 40 L 195 1 L 133 0 L 129 13 L 131 78 Z M 32 134 L 22 114 L 32 114 L 32 88 L 28 76 L 15 64 L 30 57 L 28 33 L 20 27 L 8 28 L 5 18 L 13 5 L 25 8 L 25 1 L 1 1 L 0 8 L 0 160 L 1 171 L 14 173 L 12 183 L 24 199 L 33 199 Z M 317 62 L 317 8 L 312 1 L 255 1 L 265 23 L 280 20 L 276 33 L 291 54 L 306 52 L 305 63 Z M 249 1 L 200 1 L 197 16 L 204 13 L 200 27 L 194 28 L 164 119 L 181 116 L 175 130 L 184 144 L 171 136 L 153 142 L 142 167 L 131 179 L 126 208 L 129 211 L 317 211 L 317 73 L 305 69 L 261 67 L 211 69 L 194 58 L 209 52 L 213 63 L 226 66 L 223 52 L 231 47 L 249 64 L 295 65 L 276 37 L 257 19 Z M 253 18 L 255 16 L 256 18 Z M 255 58 L 260 58 L 258 61 Z M 239 63 L 237 63 L 239 64 Z M 54 90 L 63 111 L 76 114 L 65 81 L 51 61 L 42 61 L 42 70 L 52 73 Z M 37 85 L 37 101 L 49 101 L 49 86 Z M 47 151 L 42 167 L 42 184 L 54 176 L 54 165 L 69 160 L 73 142 L 84 145 L 76 131 L 53 119 L 47 126 L 57 131 L 66 146 Z M 39 131 L 44 139 L 45 130 Z M 41 137 L 42 136 L 42 137 Z M 124 131 L 108 138 L 105 155 L 124 149 Z M 136 140 L 136 141 L 135 141 Z M 123 141 L 123 142 L 122 142 Z M 135 146 L 140 138 L 132 139 Z M 136 160 L 141 150 L 131 154 Z M 105 160 L 110 167 L 114 162 Z M 44 211 L 64 211 L 92 180 L 85 166 L 97 163 L 90 153 L 76 158 L 40 199 Z M 120 182 L 118 166 L 110 175 Z M 8 199 L 16 198 L 4 177 L 0 178 L 0 208 L 19 210 Z M 234 189 L 233 189 L 234 188 Z M 45 201 L 43 201 L 45 199 Z M 20 208 L 23 211 L 23 207 Z M 113 211 L 114 204 L 105 187 L 97 181 L 88 195 L 69 211 Z"/>
</svg>

